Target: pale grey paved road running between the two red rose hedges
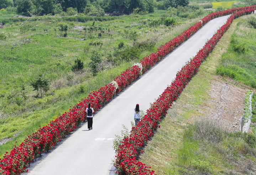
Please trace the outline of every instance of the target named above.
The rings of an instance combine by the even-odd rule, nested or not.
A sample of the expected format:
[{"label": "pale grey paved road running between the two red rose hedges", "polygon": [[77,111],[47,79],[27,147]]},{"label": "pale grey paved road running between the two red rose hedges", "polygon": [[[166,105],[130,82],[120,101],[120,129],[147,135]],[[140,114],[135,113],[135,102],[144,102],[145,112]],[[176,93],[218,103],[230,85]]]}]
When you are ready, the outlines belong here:
[{"label": "pale grey paved road running between the two red rose hedges", "polygon": [[[182,66],[192,58],[224,24],[228,16],[209,21],[188,41],[179,46],[159,64],[141,76],[93,119],[93,130],[87,123],[71,134],[56,149],[31,165],[28,175],[108,175],[113,166],[111,159],[115,134],[120,134],[122,124],[131,129],[134,108],[142,110],[153,102],[170,85]],[[92,106],[93,107],[93,106]]]}]

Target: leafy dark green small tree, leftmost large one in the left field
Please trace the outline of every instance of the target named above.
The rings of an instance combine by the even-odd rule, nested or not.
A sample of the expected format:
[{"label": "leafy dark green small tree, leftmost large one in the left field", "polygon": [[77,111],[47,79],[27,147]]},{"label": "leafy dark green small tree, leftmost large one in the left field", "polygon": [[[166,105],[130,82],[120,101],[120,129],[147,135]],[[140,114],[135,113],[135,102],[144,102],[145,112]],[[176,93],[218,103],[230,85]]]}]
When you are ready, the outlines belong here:
[{"label": "leafy dark green small tree, leftmost large one in the left field", "polygon": [[33,90],[36,91],[36,98],[42,98],[50,89],[50,80],[45,77],[45,74],[39,74],[37,78],[30,81]]}]

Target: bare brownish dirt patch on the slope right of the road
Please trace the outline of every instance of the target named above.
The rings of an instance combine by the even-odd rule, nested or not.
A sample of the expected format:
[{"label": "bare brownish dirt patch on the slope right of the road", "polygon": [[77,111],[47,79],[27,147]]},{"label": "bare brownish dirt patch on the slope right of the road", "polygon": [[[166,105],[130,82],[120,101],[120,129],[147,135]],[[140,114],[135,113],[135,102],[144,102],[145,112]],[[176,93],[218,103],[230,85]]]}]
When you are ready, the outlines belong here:
[{"label": "bare brownish dirt patch on the slope right of the road", "polygon": [[224,81],[215,78],[210,83],[208,90],[209,99],[198,108],[199,115],[190,121],[202,117],[220,122],[229,131],[241,131],[241,118],[243,116],[245,93],[249,89],[246,86],[236,86],[234,80]]}]

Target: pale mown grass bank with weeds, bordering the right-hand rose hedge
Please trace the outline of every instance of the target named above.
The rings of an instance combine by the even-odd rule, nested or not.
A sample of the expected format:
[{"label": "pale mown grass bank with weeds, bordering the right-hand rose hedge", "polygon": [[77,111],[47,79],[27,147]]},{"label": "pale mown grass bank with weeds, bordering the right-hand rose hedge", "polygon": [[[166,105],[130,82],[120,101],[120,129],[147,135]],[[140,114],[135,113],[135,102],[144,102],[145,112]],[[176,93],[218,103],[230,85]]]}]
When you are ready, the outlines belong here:
[{"label": "pale mown grass bank with weeds, bordering the right-hand rose hedge", "polygon": [[237,23],[248,17],[234,20],[143,149],[139,161],[156,174],[255,174],[255,135],[227,132],[200,108],[210,105],[210,83],[223,79],[216,75],[221,55],[229,51]]}]

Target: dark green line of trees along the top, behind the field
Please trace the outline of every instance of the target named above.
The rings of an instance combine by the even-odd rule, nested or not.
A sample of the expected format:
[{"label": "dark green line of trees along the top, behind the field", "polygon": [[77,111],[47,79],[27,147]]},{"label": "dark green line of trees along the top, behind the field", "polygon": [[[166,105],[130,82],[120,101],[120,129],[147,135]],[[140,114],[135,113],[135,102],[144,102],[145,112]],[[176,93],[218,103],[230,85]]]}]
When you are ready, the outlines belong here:
[{"label": "dark green line of trees along the top, behind the field", "polygon": [[0,9],[16,7],[19,15],[75,15],[103,16],[106,12],[129,15],[154,12],[154,9],[187,6],[189,0],[0,0]]}]

